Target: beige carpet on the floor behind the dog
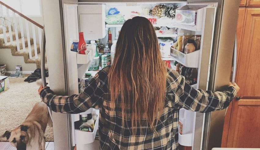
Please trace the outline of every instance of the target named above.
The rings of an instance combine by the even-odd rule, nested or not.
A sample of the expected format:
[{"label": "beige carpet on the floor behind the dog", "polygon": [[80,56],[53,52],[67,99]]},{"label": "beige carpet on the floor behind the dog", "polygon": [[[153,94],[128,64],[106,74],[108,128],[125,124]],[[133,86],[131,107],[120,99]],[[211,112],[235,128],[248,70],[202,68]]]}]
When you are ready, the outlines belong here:
[{"label": "beige carpet on the floor behind the dog", "polygon": [[[0,141],[1,135],[24,122],[34,104],[41,101],[36,82],[24,82],[25,78],[10,78],[10,89],[0,93]],[[53,141],[52,128],[47,126],[46,141]]]}]

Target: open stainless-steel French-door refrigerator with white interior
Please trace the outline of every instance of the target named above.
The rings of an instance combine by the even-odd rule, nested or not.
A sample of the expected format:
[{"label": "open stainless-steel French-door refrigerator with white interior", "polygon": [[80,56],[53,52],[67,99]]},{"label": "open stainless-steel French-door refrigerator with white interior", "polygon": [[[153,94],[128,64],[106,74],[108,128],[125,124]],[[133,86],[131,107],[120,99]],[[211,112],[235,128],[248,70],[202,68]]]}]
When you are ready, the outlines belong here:
[{"label": "open stainless-steel French-door refrigerator with white interior", "polygon": [[[82,79],[87,71],[95,55],[95,46],[89,45],[88,48],[93,53],[82,56],[70,51],[72,40],[77,39],[78,33],[83,31],[86,40],[100,38],[106,43],[108,29],[112,31],[114,40],[122,25],[105,23],[108,8],[140,9],[142,5],[171,4],[201,8],[196,13],[195,26],[178,23],[173,26],[177,30],[183,29],[184,34],[201,35],[201,46],[200,50],[190,53],[191,55],[178,54],[173,50],[173,55],[163,60],[170,60],[171,64],[177,60],[186,67],[197,68],[197,84],[193,85],[195,88],[226,90],[230,77],[234,76],[232,68],[236,68],[232,67],[232,57],[236,57],[233,52],[239,3],[239,0],[44,0],[42,5],[50,89],[58,95],[78,94],[77,78]],[[163,27],[164,24],[154,26]],[[171,36],[176,37],[167,35]],[[96,72],[91,73],[95,75]],[[92,109],[81,114],[91,111]],[[71,150],[75,145],[78,150],[99,149],[96,135],[98,119],[93,133],[84,132],[76,127],[81,114],[52,112],[55,150]],[[191,146],[193,150],[220,147],[224,118],[225,110],[211,113],[180,110],[180,119],[187,120],[184,126],[189,130],[186,134],[179,133],[179,144]]]}]

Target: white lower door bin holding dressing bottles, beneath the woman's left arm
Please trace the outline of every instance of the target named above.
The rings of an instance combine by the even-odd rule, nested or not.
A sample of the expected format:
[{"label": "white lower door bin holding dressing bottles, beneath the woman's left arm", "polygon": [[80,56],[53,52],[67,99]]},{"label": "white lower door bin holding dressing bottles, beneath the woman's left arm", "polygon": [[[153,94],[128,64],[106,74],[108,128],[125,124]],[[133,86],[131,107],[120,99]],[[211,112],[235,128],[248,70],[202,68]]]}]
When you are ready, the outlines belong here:
[{"label": "white lower door bin holding dressing bottles, beneath the woman's left arm", "polygon": [[95,141],[95,136],[98,130],[98,122],[99,122],[99,109],[96,109],[96,114],[97,114],[97,119],[95,122],[95,126],[94,126],[94,130],[93,132],[87,132],[87,131],[82,131],[79,130],[79,126],[80,126],[80,115],[82,114],[90,114],[92,112],[92,110],[95,108],[90,108],[88,109],[86,112],[80,113],[80,114],[76,114],[77,115],[77,119],[74,120],[75,122],[75,144],[77,146],[77,149],[82,147],[82,145],[85,144],[89,144]]}]

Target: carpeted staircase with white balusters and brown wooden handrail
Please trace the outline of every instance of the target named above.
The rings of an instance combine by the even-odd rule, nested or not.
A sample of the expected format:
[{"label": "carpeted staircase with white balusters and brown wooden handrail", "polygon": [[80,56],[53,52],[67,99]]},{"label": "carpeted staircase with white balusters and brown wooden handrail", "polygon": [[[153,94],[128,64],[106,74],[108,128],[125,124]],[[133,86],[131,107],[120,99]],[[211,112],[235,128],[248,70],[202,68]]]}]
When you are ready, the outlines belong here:
[{"label": "carpeted staircase with white balusters and brown wooden handrail", "polygon": [[[5,15],[3,13],[3,10],[6,10]],[[13,13],[13,16],[17,17],[18,15],[19,19],[13,16],[10,17],[10,10]],[[43,26],[31,20],[27,16],[24,16],[23,14],[17,12],[15,9],[11,8],[1,1],[0,16],[2,23],[2,25],[0,26],[0,49],[11,49],[11,53],[13,56],[23,56],[25,63],[34,63],[36,64],[36,68],[41,68],[40,49]],[[11,22],[9,20],[13,21]],[[27,38],[24,37],[23,21],[25,22],[25,33]],[[19,24],[17,22],[19,22]],[[32,38],[30,38],[28,23],[31,24],[32,27]],[[39,41],[37,42],[39,44],[36,44],[35,27],[36,29],[38,29]],[[15,57],[10,59],[15,59]],[[48,69],[47,64],[45,64],[45,68]]]}]

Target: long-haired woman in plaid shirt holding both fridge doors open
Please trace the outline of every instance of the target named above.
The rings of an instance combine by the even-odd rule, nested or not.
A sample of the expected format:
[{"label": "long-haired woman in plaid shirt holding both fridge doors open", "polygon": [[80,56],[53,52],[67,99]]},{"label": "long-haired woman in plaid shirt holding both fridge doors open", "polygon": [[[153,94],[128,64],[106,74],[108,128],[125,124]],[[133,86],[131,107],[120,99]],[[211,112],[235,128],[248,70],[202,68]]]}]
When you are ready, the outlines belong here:
[{"label": "long-haired woman in plaid shirt holding both fridge doors open", "polygon": [[58,96],[39,89],[54,112],[100,108],[100,148],[178,149],[180,108],[211,112],[228,107],[239,87],[196,90],[166,68],[153,25],[143,17],[127,20],[118,37],[113,65],[99,71],[80,95]]}]

